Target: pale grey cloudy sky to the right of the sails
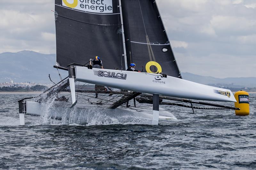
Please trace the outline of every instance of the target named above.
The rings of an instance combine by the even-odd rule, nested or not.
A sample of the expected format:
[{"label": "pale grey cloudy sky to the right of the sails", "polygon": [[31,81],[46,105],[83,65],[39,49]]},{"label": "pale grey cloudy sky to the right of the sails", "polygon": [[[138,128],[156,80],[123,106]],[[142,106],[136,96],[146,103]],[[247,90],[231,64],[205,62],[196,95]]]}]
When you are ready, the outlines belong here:
[{"label": "pale grey cloudy sky to the right of the sails", "polygon": [[256,76],[256,8],[245,6],[252,1],[157,2],[170,41],[188,43],[173,48],[182,72]]}]

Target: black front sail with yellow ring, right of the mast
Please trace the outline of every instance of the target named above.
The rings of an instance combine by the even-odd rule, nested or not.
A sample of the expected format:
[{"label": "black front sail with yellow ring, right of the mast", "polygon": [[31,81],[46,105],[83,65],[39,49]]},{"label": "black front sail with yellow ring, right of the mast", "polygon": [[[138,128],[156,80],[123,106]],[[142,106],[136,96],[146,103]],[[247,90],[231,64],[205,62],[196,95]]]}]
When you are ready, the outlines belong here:
[{"label": "black front sail with yellow ring, right of the mast", "polygon": [[181,78],[155,0],[122,0],[127,61]]}]

